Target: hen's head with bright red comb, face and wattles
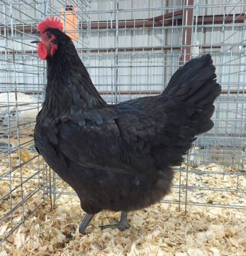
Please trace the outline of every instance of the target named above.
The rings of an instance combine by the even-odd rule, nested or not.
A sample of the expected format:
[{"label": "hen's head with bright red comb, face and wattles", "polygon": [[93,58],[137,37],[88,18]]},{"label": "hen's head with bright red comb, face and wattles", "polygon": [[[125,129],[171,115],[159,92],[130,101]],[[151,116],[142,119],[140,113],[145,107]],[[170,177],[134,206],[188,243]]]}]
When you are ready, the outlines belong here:
[{"label": "hen's head with bright red comb, face and wattles", "polygon": [[41,21],[37,26],[37,34],[41,40],[35,40],[31,43],[38,43],[38,57],[42,60],[46,60],[48,56],[53,56],[56,53],[58,43],[57,37],[54,30],[63,30],[63,25],[57,18],[54,17],[46,18],[46,20]]}]

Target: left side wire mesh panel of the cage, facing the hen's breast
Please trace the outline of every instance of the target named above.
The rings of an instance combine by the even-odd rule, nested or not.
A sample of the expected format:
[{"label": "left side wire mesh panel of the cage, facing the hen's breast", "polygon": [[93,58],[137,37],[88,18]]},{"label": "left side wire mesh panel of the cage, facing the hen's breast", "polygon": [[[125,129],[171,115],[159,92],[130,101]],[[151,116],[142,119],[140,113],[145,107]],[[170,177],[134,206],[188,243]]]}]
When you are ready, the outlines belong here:
[{"label": "left side wire mesh panel of the cage, facing the hen's breast", "polygon": [[31,153],[46,71],[30,33],[45,9],[29,0],[0,5],[0,243],[50,196],[50,172]]}]

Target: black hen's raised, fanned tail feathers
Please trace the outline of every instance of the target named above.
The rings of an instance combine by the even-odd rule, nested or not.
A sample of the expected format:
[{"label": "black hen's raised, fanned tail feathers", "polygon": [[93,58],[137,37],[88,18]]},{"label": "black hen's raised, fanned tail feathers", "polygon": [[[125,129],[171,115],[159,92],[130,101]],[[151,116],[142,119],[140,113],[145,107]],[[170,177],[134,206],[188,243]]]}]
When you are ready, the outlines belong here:
[{"label": "black hen's raised, fanned tail feathers", "polygon": [[163,92],[170,99],[195,104],[196,111],[190,120],[198,124],[196,135],[212,129],[211,117],[215,110],[213,102],[221,93],[221,85],[216,82],[215,66],[212,63],[211,55],[190,60],[174,73]]}]

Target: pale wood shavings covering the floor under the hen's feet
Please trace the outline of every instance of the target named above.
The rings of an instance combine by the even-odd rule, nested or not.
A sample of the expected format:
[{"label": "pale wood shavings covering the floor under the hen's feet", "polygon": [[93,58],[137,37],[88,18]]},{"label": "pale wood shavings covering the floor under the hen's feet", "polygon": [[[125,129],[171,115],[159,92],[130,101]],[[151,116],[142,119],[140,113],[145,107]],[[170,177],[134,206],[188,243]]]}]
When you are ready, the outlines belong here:
[{"label": "pale wood shavings covering the floor under the hen's feet", "polygon": [[[215,167],[219,169],[216,165],[211,168]],[[178,177],[177,174],[174,184]],[[192,176],[189,179],[192,179]],[[209,178],[212,179],[213,177]],[[204,182],[203,179],[200,180]],[[218,180],[216,178],[217,183]],[[240,185],[246,189],[245,177]],[[219,197],[219,194],[212,191],[211,195],[213,200]],[[173,190],[168,198],[177,200],[176,190]],[[237,200],[238,198],[245,206],[245,197],[241,195],[237,196]],[[196,199],[196,191],[193,199]],[[221,199],[235,201],[235,193],[227,193],[226,197],[224,193]],[[40,200],[40,197],[34,197],[28,202],[28,207],[35,207]],[[4,212],[1,208],[2,205],[2,215]],[[128,216],[131,228],[123,232],[117,229],[102,231],[99,228],[99,225],[113,223],[114,218],[119,218],[119,213],[103,211],[98,213],[88,226],[88,234],[80,235],[77,227],[84,214],[75,196],[61,196],[52,211],[47,200],[25,221],[25,226],[18,228],[2,244],[0,256],[246,255],[245,210],[189,206],[185,213],[184,207],[181,207],[179,212],[177,204],[158,203],[147,209],[131,212]],[[8,228],[9,223],[2,225],[0,235],[4,235]],[[76,231],[72,231],[73,229]],[[71,234],[71,237],[64,234]]]}]

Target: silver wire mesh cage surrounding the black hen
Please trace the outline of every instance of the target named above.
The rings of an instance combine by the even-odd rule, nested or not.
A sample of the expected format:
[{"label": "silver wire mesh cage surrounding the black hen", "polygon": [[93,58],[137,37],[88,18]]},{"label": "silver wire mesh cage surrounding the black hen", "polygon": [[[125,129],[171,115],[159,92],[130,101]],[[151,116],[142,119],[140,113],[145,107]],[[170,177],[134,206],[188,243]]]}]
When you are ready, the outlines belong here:
[{"label": "silver wire mesh cage surrounding the black hen", "polygon": [[[108,104],[158,95],[180,65],[211,53],[222,85],[215,126],[198,137],[182,166],[175,168],[175,197],[163,202],[185,210],[190,205],[246,210],[245,6],[244,0],[3,0],[0,225],[6,229],[0,243],[47,199],[52,208],[61,194],[75,194],[33,148],[46,63],[30,44],[31,32],[51,15],[62,20]],[[24,153],[31,158],[23,158]]]}]

